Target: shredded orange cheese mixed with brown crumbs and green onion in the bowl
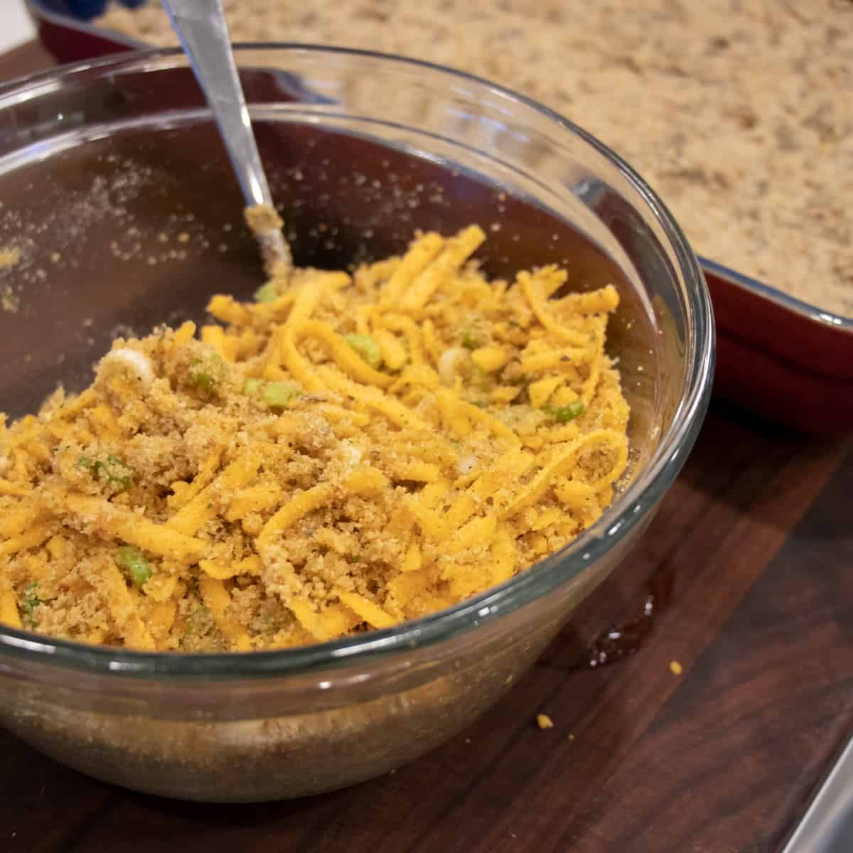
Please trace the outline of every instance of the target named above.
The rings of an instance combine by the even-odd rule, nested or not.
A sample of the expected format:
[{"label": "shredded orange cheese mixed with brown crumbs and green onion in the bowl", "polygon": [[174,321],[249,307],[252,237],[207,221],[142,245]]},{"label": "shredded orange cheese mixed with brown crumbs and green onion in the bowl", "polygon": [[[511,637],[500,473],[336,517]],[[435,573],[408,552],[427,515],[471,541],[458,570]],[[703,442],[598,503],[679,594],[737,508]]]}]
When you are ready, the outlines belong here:
[{"label": "shredded orange cheese mixed with brown crumbs and green onion in the bowl", "polygon": [[628,460],[618,293],[561,295],[554,266],[487,281],[483,241],[214,296],[218,322],[119,339],[82,394],[0,416],[0,621],[298,646],[450,606],[595,523]]}]

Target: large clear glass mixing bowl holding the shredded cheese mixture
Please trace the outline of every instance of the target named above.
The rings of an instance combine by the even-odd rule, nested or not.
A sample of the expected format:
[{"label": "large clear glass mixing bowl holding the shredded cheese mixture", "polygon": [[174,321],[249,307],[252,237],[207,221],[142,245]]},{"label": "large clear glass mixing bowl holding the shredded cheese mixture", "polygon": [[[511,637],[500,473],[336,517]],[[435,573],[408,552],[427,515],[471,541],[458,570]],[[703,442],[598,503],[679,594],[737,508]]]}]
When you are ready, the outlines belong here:
[{"label": "large clear glass mixing bowl holding the shredded cheese mixture", "polygon": [[[614,283],[608,347],[633,415],[601,520],[508,583],[391,630],[280,652],[138,653],[0,631],[0,721],[102,780],[211,801],[327,791],[437,746],[507,691],[634,547],[711,391],[711,303],[684,235],[601,143],[464,74],[342,49],[238,51],[299,264],[482,224],[492,275],[559,262]],[[82,388],[115,335],[199,319],[262,280],[182,54],[122,55],[0,89],[0,409]]]}]

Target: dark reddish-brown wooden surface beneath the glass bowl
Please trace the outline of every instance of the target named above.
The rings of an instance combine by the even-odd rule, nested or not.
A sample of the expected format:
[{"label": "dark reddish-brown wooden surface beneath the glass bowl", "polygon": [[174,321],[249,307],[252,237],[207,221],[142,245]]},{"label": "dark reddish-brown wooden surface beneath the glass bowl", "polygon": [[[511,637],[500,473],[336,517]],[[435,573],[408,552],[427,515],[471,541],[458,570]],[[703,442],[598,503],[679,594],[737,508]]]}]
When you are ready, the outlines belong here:
[{"label": "dark reddish-brown wooden surface beneath the glass bowl", "polygon": [[[26,46],[0,79],[48,62]],[[636,553],[444,747],[345,791],[223,806],[104,785],[0,730],[0,850],[771,853],[850,734],[851,496],[853,442],[714,403]],[[651,577],[670,601],[640,650],[579,665]]]}]

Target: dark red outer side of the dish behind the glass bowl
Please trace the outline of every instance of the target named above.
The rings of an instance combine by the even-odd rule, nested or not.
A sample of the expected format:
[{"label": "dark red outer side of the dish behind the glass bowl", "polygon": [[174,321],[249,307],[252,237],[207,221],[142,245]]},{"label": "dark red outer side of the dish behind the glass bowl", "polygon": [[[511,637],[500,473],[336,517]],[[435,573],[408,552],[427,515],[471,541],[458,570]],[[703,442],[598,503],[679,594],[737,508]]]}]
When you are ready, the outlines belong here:
[{"label": "dark red outer side of the dish behind the glass bowl", "polygon": [[[78,20],[68,0],[27,3],[58,61],[150,46]],[[853,432],[853,317],[699,260],[717,320],[717,395],[798,432]]]}]

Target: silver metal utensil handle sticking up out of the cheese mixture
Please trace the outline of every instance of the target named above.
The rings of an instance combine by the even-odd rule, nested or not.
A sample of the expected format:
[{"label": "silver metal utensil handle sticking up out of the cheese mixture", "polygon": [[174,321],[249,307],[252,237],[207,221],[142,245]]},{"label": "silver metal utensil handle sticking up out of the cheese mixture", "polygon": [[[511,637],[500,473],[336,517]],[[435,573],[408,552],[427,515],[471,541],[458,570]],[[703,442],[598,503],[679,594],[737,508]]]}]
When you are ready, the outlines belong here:
[{"label": "silver metal utensil handle sticking up out of the cheese mixture", "polygon": [[258,239],[264,270],[270,276],[287,275],[293,255],[281,234],[281,219],[252,133],[222,0],[163,0],[163,6],[216,119],[246,199],[247,223]]}]

